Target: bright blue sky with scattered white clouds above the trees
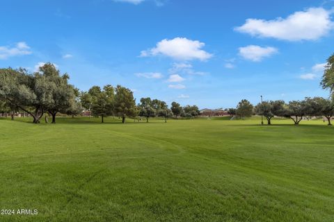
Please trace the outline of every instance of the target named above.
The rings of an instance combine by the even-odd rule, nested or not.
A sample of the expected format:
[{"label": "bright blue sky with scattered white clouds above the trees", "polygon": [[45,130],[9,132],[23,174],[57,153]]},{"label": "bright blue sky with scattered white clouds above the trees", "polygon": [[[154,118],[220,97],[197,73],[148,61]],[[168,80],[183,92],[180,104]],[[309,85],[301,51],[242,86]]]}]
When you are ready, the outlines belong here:
[{"label": "bright blue sky with scattered white clouds above the trees", "polygon": [[0,4],[0,67],[53,62],[81,90],[120,84],[137,101],[200,108],[328,96],[319,81],[334,53],[334,1]]}]

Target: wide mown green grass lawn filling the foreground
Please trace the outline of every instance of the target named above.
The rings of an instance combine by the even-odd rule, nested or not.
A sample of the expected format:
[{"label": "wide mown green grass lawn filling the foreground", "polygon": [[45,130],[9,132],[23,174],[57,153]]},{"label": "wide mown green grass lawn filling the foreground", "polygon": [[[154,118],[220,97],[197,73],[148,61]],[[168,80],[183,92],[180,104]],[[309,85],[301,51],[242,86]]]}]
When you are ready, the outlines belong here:
[{"label": "wide mown green grass lawn filling the foreground", "polygon": [[0,119],[0,221],[334,221],[322,121]]}]

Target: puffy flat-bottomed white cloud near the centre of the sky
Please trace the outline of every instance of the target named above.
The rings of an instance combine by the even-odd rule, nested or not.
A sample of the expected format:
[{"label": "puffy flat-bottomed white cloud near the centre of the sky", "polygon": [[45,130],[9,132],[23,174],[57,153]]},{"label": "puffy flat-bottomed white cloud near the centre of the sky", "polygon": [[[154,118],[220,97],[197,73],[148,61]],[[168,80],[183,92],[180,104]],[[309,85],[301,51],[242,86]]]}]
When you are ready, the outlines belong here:
[{"label": "puffy flat-bottomed white cloud near the centre of the sky", "polygon": [[175,37],[173,40],[161,40],[155,48],[141,51],[141,57],[164,55],[175,60],[205,61],[211,58],[212,54],[202,50],[204,46],[205,43],[197,40]]}]

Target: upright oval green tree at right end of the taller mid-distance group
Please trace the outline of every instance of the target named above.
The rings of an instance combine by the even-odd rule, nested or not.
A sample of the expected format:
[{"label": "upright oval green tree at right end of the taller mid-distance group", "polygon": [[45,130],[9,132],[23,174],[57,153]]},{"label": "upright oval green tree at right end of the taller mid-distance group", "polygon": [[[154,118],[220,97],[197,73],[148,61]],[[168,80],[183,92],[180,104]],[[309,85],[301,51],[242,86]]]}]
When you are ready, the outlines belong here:
[{"label": "upright oval green tree at right end of the taller mid-distance group", "polygon": [[125,123],[126,117],[134,117],[136,113],[136,100],[133,92],[120,85],[116,87],[113,105],[115,113],[122,117],[122,123]]}]

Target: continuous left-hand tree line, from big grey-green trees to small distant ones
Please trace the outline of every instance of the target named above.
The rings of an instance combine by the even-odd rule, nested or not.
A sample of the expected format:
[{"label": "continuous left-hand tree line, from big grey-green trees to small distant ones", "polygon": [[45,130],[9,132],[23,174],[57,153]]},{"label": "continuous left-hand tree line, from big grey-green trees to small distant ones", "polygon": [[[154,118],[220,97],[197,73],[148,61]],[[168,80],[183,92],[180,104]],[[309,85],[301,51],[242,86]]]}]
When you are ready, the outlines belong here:
[{"label": "continuous left-hand tree line, from big grey-green trees to small distant ones", "polygon": [[[70,76],[61,74],[56,67],[47,63],[33,74],[26,69],[0,69],[0,112],[14,114],[23,110],[33,123],[40,123],[45,114],[56,123],[58,113],[78,115],[84,109],[94,117],[117,116],[125,123],[126,117],[196,117],[200,112],[196,105],[182,107],[173,102],[171,107],[158,99],[142,98],[136,105],[133,92],[121,85],[91,87],[87,92],[68,83]],[[46,118],[47,121],[47,118]]]}]

